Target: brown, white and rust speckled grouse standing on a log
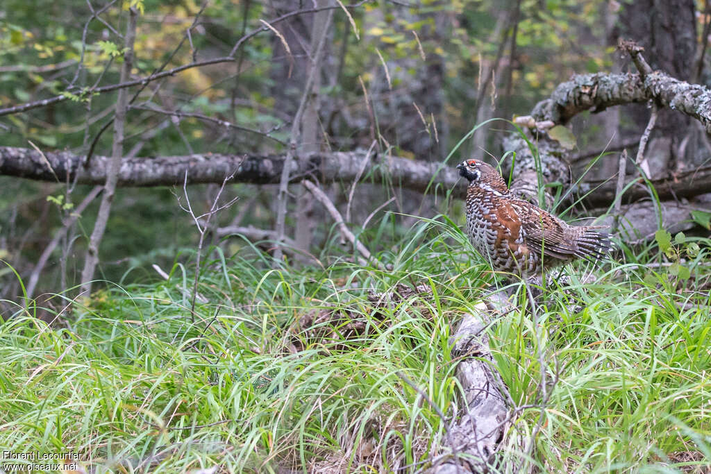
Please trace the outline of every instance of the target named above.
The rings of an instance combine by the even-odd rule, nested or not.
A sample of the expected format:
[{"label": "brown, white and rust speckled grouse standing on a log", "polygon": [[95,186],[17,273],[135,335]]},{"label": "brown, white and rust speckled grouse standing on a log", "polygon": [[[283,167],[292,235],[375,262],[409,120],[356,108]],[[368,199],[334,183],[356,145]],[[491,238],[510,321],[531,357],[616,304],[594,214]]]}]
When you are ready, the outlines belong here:
[{"label": "brown, white and rust speckled grouse standing on a log", "polygon": [[572,226],[510,193],[501,174],[478,160],[457,168],[469,181],[466,229],[494,271],[528,278],[544,270],[587,259],[597,262],[612,249],[599,226]]}]

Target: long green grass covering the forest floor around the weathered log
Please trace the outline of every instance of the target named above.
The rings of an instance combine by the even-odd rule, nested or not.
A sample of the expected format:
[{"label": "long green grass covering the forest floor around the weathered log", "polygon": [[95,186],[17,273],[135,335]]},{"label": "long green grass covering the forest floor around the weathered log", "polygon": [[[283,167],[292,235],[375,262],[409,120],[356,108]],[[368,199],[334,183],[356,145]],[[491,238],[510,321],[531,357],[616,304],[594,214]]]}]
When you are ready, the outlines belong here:
[{"label": "long green grass covering the forest floor around the weathered log", "polygon": [[[689,280],[637,265],[659,262],[656,247],[626,249],[626,263],[569,268],[565,291],[551,283],[538,328],[523,291],[489,328],[516,404],[540,403],[540,360],[557,377],[531,455],[542,472],[711,463],[711,242],[695,242]],[[494,280],[447,223],[423,221],[382,257],[392,270],[342,259],[277,271],[244,247],[205,264],[195,323],[180,264],[168,281],[90,301],[54,296],[66,308],[52,325],[18,306],[0,325],[0,447],[78,452],[99,472],[427,468],[444,422],[396,372],[451,417],[461,394],[451,328]],[[580,284],[585,271],[597,281]],[[368,298],[397,284],[432,292],[390,306]],[[335,328],[301,327],[325,313],[341,316]],[[365,329],[353,333],[354,319]],[[499,460],[525,458],[520,440],[540,414],[521,411]]]}]

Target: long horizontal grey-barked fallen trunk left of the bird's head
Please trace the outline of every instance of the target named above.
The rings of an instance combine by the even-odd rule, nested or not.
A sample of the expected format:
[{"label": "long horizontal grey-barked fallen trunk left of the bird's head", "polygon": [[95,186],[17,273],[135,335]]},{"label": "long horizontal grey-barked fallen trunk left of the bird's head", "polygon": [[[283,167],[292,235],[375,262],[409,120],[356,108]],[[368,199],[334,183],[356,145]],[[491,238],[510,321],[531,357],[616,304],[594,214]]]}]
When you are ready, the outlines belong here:
[{"label": "long horizontal grey-barked fallen trunk left of the bird's head", "polygon": [[[67,178],[79,184],[103,184],[107,177],[107,156],[94,156],[90,166],[82,166],[83,156],[67,151],[45,152],[33,149],[0,146],[0,175],[17,176],[38,181],[56,182]],[[361,182],[384,183],[420,193],[444,194],[455,187],[463,196],[466,185],[453,166],[442,163],[399,158],[368,156],[368,151],[316,153],[292,167],[290,183],[311,178],[322,184],[352,183],[367,160]],[[159,156],[156,158],[124,158],[119,169],[117,186],[149,187],[183,185],[186,171],[188,185],[222,183],[233,172],[231,183],[276,184],[282,176],[285,156],[194,154]],[[51,166],[52,170],[48,168]]]}]

